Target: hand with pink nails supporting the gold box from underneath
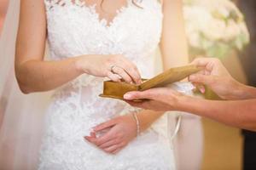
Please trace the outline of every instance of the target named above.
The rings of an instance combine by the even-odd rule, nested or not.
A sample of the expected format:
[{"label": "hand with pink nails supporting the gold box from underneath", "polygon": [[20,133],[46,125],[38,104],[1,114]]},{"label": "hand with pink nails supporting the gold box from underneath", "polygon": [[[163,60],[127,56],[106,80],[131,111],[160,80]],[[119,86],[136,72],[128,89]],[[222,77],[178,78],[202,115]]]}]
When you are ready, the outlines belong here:
[{"label": "hand with pink nails supporting the gold box from underneath", "polygon": [[[143,92],[130,92],[125,94],[124,99],[130,105],[146,110],[154,111],[176,111],[178,109],[178,99],[183,94],[171,88],[152,88]],[[148,99],[142,102],[134,102],[134,99]]]}]

